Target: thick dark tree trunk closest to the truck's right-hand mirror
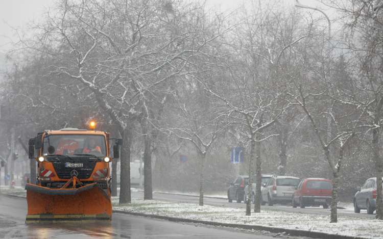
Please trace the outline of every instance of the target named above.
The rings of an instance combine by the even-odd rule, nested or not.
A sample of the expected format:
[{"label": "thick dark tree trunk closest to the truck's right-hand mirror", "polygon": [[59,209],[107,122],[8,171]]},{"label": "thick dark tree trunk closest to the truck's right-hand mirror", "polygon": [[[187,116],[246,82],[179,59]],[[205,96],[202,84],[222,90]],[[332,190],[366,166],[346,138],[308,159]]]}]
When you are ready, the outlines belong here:
[{"label": "thick dark tree trunk closest to the truck's right-hand mirror", "polygon": [[132,144],[132,132],[126,129],[123,134],[123,146],[121,147],[121,175],[119,180],[119,204],[131,203],[130,192],[130,147]]}]

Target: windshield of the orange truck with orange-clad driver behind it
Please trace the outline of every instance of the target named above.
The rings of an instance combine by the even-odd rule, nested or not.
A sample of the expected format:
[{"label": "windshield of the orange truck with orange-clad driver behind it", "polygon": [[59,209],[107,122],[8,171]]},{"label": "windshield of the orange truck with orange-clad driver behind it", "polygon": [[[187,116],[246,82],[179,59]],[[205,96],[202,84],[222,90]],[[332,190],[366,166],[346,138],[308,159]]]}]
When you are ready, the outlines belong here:
[{"label": "windshield of the orange truck with orange-clad driver behind it", "polygon": [[42,153],[49,155],[106,155],[106,140],[103,135],[47,135],[44,136]]}]

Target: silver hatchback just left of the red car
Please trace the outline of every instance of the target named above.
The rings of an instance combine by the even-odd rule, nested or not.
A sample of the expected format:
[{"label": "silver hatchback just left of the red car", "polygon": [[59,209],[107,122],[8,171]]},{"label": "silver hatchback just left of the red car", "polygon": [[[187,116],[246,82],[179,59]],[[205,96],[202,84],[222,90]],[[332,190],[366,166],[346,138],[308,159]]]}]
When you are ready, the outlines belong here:
[{"label": "silver hatchback just left of the red car", "polygon": [[291,203],[293,193],[297,188],[300,179],[291,176],[272,176],[262,189],[261,204],[268,202],[269,206],[275,203]]}]

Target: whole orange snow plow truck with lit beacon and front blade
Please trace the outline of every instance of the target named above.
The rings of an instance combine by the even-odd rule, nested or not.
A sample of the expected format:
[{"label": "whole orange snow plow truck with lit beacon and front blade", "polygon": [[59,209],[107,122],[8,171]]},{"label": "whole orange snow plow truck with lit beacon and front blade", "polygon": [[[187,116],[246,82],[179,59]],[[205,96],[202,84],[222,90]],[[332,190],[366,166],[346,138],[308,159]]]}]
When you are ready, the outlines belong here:
[{"label": "whole orange snow plow truck with lit beacon and front blade", "polygon": [[37,161],[36,184],[27,183],[26,224],[110,223],[109,147],[119,157],[122,139],[94,130],[44,130],[29,140],[29,158]]}]

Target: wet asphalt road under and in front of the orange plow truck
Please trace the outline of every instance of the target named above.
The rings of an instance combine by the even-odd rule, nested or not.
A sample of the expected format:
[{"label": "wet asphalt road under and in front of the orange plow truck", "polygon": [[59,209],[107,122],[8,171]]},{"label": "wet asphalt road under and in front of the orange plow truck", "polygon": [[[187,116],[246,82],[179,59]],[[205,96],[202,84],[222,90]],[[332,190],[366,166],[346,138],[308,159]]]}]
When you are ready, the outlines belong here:
[{"label": "wet asphalt road under and in front of the orange plow truck", "polygon": [[[257,238],[274,234],[175,223],[114,213],[111,224],[26,225],[27,200],[0,195],[0,238]],[[275,235],[274,235],[275,236]],[[294,238],[294,237],[291,237]]]}]

